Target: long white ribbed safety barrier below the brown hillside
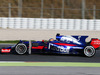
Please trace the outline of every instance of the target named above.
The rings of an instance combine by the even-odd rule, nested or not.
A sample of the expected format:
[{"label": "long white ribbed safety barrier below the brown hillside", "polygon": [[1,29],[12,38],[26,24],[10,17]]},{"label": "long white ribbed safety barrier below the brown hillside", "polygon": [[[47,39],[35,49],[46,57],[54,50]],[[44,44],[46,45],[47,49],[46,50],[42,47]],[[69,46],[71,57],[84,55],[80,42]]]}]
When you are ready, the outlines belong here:
[{"label": "long white ribbed safety barrier below the brown hillside", "polygon": [[100,30],[99,19],[6,18],[0,17],[0,28]]}]

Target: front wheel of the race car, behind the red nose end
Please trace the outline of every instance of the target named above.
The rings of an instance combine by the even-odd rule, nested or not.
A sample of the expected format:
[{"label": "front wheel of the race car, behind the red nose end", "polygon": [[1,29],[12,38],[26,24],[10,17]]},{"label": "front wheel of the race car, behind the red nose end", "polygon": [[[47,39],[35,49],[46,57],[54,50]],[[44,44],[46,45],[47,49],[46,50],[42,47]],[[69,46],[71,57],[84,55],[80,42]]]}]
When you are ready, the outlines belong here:
[{"label": "front wheel of the race car, behind the red nose end", "polygon": [[17,52],[17,54],[25,54],[27,52],[27,47],[25,44],[23,43],[19,43],[17,44],[17,46],[15,47],[15,51]]}]

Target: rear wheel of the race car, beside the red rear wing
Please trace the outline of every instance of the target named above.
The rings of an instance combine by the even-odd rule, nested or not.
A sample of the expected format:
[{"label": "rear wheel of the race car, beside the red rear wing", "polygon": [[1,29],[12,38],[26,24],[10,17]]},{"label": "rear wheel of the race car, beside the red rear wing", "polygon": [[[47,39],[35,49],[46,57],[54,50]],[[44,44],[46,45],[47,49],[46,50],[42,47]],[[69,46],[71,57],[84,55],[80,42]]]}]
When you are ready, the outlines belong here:
[{"label": "rear wheel of the race car, beside the red rear wing", "polygon": [[84,55],[86,57],[93,57],[95,55],[95,53],[96,53],[96,50],[94,49],[93,46],[86,46],[84,48]]}]

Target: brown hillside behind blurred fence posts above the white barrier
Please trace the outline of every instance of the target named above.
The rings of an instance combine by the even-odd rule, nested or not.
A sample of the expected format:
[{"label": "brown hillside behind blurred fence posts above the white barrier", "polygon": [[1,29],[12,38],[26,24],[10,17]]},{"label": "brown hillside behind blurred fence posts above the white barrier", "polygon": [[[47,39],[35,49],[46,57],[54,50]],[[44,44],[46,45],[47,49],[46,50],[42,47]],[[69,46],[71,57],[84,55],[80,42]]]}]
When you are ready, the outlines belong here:
[{"label": "brown hillside behind blurred fence posts above the white barrier", "polygon": [[0,0],[0,17],[100,19],[100,0]]}]

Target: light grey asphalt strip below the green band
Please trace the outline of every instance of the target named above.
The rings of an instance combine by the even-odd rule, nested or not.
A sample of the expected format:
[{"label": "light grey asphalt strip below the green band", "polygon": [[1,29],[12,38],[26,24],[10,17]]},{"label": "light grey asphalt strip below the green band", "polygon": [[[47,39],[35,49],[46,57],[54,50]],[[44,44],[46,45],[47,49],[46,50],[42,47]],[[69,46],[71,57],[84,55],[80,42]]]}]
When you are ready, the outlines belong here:
[{"label": "light grey asphalt strip below the green band", "polygon": [[0,67],[0,75],[100,75],[90,67]]}]

